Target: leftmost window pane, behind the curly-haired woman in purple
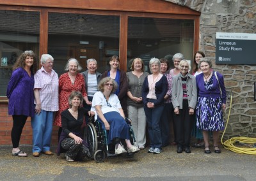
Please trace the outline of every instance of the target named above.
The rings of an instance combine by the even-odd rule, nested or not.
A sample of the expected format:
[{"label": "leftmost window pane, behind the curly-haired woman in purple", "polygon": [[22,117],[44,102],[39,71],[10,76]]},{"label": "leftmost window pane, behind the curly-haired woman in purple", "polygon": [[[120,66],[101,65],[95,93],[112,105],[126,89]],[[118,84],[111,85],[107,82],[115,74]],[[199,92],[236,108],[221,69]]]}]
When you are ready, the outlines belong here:
[{"label": "leftmost window pane, behind the curly-haired woman in purple", "polygon": [[0,10],[0,96],[6,96],[17,57],[25,50],[38,55],[39,24],[39,12]]}]

